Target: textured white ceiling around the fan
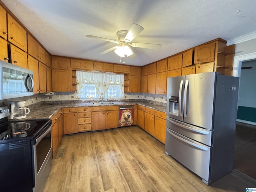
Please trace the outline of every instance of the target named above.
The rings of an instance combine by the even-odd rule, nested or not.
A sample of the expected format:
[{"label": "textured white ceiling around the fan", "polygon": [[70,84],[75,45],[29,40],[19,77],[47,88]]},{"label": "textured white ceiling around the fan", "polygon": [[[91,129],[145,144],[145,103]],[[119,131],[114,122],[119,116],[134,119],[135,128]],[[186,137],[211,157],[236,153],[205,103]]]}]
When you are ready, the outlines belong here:
[{"label": "textured white ceiling around the fan", "polygon": [[144,30],[133,42],[162,44],[160,50],[132,48],[143,66],[215,38],[231,40],[256,32],[255,0],[1,0],[53,55],[119,63],[116,32],[132,23]]}]

